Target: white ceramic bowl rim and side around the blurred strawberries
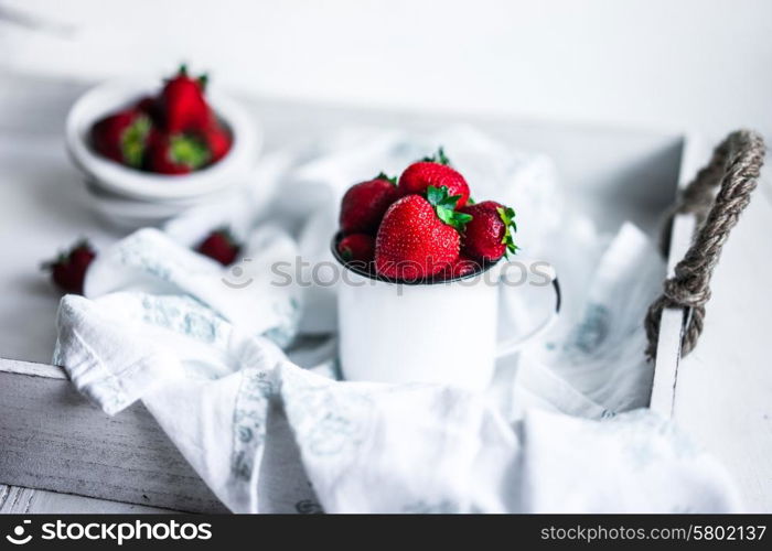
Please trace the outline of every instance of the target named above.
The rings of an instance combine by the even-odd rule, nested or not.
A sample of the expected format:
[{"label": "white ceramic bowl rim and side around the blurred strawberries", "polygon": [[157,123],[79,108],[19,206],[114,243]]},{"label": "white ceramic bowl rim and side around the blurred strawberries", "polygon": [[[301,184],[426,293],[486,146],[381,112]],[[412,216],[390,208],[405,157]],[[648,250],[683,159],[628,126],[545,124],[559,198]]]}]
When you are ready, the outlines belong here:
[{"label": "white ceramic bowl rim and side around the blurred strawberries", "polygon": [[158,91],[158,83],[114,80],[92,88],[75,102],[67,115],[65,139],[73,161],[87,177],[118,195],[153,203],[213,194],[248,177],[257,161],[261,134],[251,116],[216,89],[207,90],[206,97],[228,125],[233,145],[227,155],[211,166],[182,175],[153,174],[124,166],[92,149],[88,137],[94,122]]}]

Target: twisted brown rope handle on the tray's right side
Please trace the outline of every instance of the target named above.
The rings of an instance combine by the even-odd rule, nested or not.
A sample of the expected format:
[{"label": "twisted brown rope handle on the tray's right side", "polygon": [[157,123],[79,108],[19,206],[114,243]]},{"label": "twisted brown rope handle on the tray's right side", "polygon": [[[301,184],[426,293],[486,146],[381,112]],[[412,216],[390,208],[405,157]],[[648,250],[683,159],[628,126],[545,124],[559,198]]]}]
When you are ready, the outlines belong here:
[{"label": "twisted brown rope handle on the tray's right side", "polygon": [[[705,304],[710,300],[710,278],[729,233],[750,203],[750,194],[764,164],[764,140],[757,132],[738,130],[730,133],[714,150],[708,165],[684,188],[671,210],[660,244],[665,256],[676,214],[694,214],[698,230],[683,260],[676,264],[673,277],[665,280],[662,295],[648,306],[644,322],[648,359],[656,357],[664,309],[689,309],[682,356],[689,354],[697,345],[703,333]],[[718,194],[714,198],[716,187]]]}]

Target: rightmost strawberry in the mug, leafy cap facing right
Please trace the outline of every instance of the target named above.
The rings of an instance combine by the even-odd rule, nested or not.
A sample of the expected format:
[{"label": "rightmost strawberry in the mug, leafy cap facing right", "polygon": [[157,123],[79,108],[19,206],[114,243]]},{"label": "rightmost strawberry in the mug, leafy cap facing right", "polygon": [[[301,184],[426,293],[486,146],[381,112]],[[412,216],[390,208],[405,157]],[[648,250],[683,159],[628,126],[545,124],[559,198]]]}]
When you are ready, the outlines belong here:
[{"label": "rightmost strawberry in the mug, leafy cap facing right", "polygon": [[476,260],[496,261],[517,250],[512,239],[512,233],[517,231],[512,208],[495,201],[484,201],[468,205],[461,212],[472,216],[463,238],[465,255]]}]

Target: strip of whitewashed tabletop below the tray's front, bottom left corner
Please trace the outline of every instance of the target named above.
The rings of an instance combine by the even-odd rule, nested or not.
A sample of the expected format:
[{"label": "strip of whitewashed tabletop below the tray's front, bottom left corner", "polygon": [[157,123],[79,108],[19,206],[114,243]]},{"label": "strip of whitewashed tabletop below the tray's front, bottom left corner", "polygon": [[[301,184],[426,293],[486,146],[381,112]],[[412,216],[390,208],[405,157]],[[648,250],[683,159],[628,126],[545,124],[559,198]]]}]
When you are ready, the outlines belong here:
[{"label": "strip of whitewashed tabletop below the tray's front, bottom left corner", "polygon": [[0,515],[63,515],[68,512],[150,515],[174,511],[43,489],[0,485]]}]

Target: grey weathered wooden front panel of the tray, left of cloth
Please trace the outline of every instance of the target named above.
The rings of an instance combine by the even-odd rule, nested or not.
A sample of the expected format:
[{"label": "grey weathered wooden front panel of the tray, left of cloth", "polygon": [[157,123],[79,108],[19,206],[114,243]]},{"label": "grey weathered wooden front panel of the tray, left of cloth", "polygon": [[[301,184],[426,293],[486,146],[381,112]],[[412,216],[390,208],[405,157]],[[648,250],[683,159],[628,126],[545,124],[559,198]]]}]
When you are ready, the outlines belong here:
[{"label": "grey weathered wooden front panel of the tray, left of cloth", "polygon": [[0,371],[0,484],[225,511],[141,406],[114,418],[64,378]]}]

